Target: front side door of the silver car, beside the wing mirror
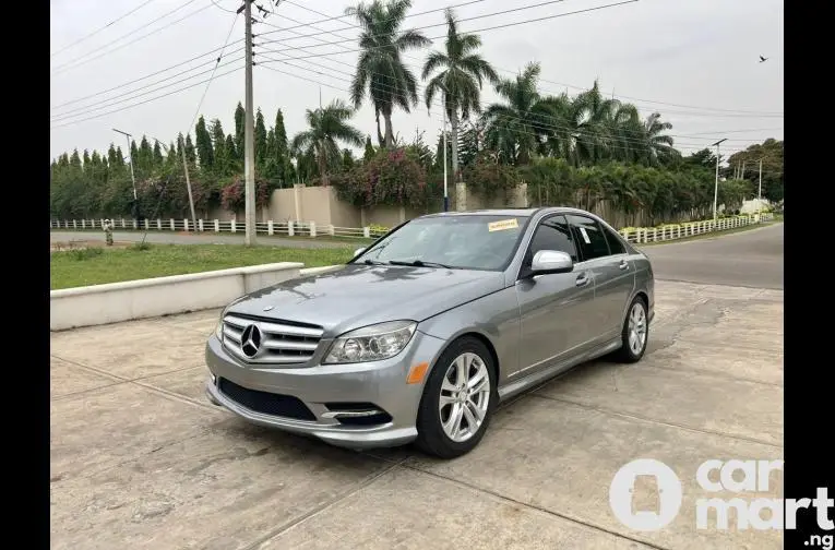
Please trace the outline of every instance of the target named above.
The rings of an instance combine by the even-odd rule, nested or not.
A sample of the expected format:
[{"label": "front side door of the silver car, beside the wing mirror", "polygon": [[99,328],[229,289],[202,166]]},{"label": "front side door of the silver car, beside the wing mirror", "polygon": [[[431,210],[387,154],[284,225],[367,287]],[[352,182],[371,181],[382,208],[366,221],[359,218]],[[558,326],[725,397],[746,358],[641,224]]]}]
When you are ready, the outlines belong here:
[{"label": "front side door of the silver car, beside the wing mirror", "polygon": [[[540,250],[565,252],[577,262],[574,238],[563,215],[539,223],[525,254],[522,274],[530,268]],[[595,279],[591,270],[577,263],[571,273],[521,277],[516,282],[521,315],[520,370],[530,374],[556,361],[581,352],[594,338]]]}]

